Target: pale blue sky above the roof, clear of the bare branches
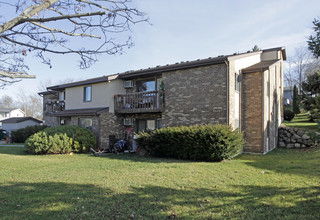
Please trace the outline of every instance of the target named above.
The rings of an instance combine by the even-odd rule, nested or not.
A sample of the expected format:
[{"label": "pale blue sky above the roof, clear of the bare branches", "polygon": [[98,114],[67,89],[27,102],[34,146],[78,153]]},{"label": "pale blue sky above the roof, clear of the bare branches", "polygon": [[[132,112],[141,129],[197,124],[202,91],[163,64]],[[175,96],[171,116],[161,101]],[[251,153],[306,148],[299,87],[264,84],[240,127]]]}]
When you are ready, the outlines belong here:
[{"label": "pale blue sky above the roof, clear of the bare branches", "polygon": [[[53,67],[27,58],[30,74],[37,79],[23,80],[0,90],[0,97],[15,97],[24,89],[39,92],[41,81],[67,78],[84,80],[128,70],[180,61],[245,52],[258,45],[262,49],[285,46],[287,56],[306,46],[312,21],[320,18],[319,0],[133,0],[146,12],[152,25],[133,27],[135,46],[123,55],[100,56],[89,69],[78,68],[76,56],[51,56]],[[1,10],[1,8],[0,8]],[[0,11],[2,14],[2,12]],[[128,34],[124,34],[127,36]]]}]

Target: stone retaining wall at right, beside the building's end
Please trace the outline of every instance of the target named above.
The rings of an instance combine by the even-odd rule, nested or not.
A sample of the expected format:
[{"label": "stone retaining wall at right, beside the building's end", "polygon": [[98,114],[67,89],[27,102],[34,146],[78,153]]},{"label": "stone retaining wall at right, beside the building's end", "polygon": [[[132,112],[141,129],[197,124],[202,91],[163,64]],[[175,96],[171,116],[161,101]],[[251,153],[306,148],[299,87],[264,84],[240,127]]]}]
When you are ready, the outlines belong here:
[{"label": "stone retaining wall at right, beside the building's end", "polygon": [[298,128],[279,127],[278,146],[285,148],[305,148],[315,144],[310,132]]}]

